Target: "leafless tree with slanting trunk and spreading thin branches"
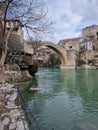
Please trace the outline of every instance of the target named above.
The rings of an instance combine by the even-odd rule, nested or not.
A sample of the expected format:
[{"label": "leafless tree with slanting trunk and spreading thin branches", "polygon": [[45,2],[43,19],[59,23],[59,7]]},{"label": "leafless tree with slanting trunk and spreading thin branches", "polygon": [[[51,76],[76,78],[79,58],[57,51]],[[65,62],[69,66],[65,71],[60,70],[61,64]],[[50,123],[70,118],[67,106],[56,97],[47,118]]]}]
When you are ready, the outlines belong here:
[{"label": "leafless tree with slanting trunk and spreading thin branches", "polygon": [[[1,0],[0,6],[4,5],[4,14],[0,20],[1,31],[1,56],[0,56],[0,83],[4,82],[4,62],[7,56],[8,39],[13,31],[13,27],[7,30],[7,20],[19,20],[25,30],[32,34],[41,34],[48,32],[51,22],[47,19],[47,10],[42,0]],[[11,25],[11,24],[10,24]]]}]

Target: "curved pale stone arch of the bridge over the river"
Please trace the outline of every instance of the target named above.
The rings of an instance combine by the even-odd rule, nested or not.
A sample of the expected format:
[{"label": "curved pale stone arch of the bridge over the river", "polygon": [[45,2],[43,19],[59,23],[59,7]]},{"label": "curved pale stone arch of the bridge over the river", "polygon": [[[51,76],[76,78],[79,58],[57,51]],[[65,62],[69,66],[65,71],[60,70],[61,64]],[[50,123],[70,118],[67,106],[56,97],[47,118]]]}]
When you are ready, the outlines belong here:
[{"label": "curved pale stone arch of the bridge over the river", "polygon": [[49,48],[53,49],[58,54],[58,56],[59,56],[59,58],[61,60],[60,67],[61,68],[65,68],[66,67],[67,56],[66,56],[66,51],[62,47],[56,45],[53,42],[49,42],[49,41],[41,42],[40,46],[46,46],[46,47],[49,47]]}]

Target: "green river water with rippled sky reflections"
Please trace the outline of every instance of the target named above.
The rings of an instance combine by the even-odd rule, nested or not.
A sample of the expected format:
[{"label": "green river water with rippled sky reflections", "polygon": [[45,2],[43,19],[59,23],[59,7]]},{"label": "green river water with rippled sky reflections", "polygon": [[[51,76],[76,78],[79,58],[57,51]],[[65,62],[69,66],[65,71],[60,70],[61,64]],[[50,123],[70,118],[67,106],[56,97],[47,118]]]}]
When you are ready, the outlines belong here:
[{"label": "green river water with rippled sky reflections", "polygon": [[20,90],[40,130],[98,130],[98,70],[39,69]]}]

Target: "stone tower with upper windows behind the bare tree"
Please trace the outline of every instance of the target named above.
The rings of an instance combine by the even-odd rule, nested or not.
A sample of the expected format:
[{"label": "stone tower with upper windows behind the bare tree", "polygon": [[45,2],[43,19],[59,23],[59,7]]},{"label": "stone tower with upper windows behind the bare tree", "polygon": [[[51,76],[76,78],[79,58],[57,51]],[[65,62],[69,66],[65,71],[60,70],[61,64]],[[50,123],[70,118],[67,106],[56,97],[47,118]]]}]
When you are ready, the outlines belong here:
[{"label": "stone tower with upper windows behind the bare tree", "polygon": [[7,20],[6,28],[7,31],[12,28],[12,32],[8,41],[8,48],[10,50],[23,51],[24,39],[22,23],[19,20]]}]

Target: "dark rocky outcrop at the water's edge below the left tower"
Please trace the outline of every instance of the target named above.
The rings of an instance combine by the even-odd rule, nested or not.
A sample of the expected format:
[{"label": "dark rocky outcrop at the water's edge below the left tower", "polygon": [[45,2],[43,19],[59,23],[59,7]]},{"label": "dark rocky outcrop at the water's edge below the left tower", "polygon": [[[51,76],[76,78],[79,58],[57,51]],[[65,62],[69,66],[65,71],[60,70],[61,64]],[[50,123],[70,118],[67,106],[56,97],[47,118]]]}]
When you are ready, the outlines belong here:
[{"label": "dark rocky outcrop at the water's edge below the left tower", "polygon": [[37,70],[38,66],[33,63],[32,55],[19,51],[8,53],[5,62],[6,81],[23,82],[30,80]]}]

